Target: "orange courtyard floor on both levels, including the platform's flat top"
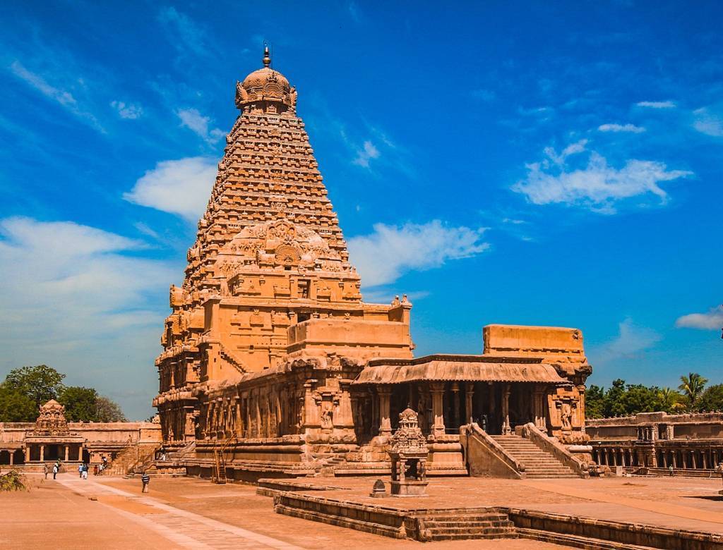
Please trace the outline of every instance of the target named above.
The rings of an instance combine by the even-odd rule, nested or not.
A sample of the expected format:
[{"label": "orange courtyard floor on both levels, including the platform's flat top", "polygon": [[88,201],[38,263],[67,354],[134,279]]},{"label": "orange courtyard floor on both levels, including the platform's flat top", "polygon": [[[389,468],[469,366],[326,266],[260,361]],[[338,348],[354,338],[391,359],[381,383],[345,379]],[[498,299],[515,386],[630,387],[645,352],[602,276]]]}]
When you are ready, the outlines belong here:
[{"label": "orange courtyard floor on both levels, including the platform's flat top", "polygon": [[[0,547],[30,549],[360,549],[421,548],[390,538],[273,513],[273,501],[254,486],[218,486],[199,479],[152,479],[141,494],[137,479],[65,473],[57,481],[29,475],[30,492],[0,497]],[[510,505],[534,510],[723,533],[720,479],[608,478],[513,481],[432,479],[425,499],[371,499],[373,479],[315,479],[348,490],[315,492],[403,507]],[[469,548],[470,541],[428,543]],[[553,549],[536,541],[474,541],[479,549]]]}]

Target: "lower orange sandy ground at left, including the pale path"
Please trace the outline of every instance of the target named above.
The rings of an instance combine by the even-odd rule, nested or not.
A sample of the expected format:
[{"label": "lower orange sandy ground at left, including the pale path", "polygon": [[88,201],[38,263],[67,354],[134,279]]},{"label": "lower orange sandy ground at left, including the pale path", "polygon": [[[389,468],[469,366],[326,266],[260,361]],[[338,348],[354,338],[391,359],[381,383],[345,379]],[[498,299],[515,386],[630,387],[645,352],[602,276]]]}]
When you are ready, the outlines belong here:
[{"label": "lower orange sandy ground at left, including the pale path", "polygon": [[562,548],[510,539],[427,545],[398,541],[277,515],[272,499],[241,484],[152,479],[150,493],[141,494],[139,480],[91,476],[82,481],[72,473],[57,481],[27,478],[29,492],[0,495],[1,549]]}]

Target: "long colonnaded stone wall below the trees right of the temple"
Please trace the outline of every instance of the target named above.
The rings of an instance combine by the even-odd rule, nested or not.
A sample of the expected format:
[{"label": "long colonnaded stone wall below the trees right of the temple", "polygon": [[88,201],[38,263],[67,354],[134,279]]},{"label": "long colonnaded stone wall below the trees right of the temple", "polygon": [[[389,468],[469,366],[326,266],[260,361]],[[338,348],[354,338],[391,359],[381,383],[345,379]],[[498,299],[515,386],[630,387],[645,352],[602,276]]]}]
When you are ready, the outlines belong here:
[{"label": "long colonnaded stone wall below the trees right of the temple", "polygon": [[589,419],[593,458],[601,466],[711,471],[723,462],[723,413],[638,413]]}]

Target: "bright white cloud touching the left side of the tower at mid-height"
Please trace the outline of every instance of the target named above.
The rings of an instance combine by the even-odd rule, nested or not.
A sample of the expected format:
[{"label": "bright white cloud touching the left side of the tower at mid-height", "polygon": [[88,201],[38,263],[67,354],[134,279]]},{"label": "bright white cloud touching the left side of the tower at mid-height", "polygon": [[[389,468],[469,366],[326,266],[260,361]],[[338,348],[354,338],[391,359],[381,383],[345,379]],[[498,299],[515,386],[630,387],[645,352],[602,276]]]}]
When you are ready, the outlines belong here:
[{"label": "bright white cloud touching the left side of the tower at mid-height", "polygon": [[217,161],[210,157],[163,160],[123,198],[194,221],[205,211],[216,171]]}]

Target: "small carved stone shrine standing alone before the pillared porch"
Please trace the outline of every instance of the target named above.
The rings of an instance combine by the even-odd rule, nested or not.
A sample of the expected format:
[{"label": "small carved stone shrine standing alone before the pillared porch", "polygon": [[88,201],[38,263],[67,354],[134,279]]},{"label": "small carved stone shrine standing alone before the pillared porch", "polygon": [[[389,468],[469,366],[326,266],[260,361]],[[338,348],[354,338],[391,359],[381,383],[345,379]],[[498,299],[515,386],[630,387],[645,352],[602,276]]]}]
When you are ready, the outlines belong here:
[{"label": "small carved stone shrine standing alone before the pillared porch", "polygon": [[419,497],[427,491],[427,439],[419,429],[412,409],[399,414],[399,427],[391,439],[391,494],[393,497]]}]

